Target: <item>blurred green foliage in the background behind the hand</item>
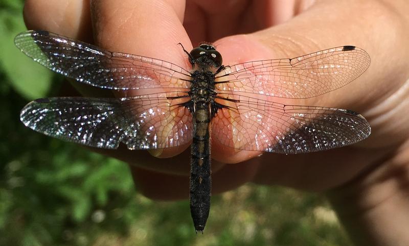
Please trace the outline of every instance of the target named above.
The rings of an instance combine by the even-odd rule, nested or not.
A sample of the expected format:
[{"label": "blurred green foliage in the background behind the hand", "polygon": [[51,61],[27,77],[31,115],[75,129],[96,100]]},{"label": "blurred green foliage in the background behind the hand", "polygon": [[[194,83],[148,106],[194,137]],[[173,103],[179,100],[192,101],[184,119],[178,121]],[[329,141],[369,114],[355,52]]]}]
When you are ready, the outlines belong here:
[{"label": "blurred green foliage in the background behind the hand", "polygon": [[0,245],[350,245],[321,196],[255,185],[213,196],[196,235],[187,201],[146,199],[125,163],[25,128],[21,108],[58,83],[14,47],[21,10],[0,0]]}]

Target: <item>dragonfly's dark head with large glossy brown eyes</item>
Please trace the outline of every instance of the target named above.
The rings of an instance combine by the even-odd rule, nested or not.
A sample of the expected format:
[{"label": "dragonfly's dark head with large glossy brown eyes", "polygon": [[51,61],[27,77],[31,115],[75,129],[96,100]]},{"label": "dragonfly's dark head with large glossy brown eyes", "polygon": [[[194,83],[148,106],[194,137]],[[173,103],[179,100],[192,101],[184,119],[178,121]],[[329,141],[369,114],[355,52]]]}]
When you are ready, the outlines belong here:
[{"label": "dragonfly's dark head with large glossy brown eyes", "polygon": [[189,61],[196,69],[217,70],[221,66],[223,59],[213,45],[202,43],[190,52]]}]

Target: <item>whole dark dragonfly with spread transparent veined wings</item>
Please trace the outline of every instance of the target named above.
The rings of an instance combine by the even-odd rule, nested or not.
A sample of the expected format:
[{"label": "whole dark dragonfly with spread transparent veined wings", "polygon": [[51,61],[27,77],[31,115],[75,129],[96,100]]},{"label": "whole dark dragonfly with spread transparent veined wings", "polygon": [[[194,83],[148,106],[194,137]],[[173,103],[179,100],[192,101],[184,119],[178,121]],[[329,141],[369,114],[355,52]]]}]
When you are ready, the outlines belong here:
[{"label": "whole dark dragonfly with spread transparent veined wings", "polygon": [[299,154],[356,143],[368,121],[347,109],[284,104],[343,87],[370,65],[361,48],[344,45],[292,59],[222,64],[212,44],[191,52],[191,67],[110,52],[48,31],[18,34],[34,61],[79,83],[122,96],[50,97],[27,104],[22,123],[62,140],[129,150],[191,145],[190,210],[203,233],[210,211],[211,142],[256,152]]}]

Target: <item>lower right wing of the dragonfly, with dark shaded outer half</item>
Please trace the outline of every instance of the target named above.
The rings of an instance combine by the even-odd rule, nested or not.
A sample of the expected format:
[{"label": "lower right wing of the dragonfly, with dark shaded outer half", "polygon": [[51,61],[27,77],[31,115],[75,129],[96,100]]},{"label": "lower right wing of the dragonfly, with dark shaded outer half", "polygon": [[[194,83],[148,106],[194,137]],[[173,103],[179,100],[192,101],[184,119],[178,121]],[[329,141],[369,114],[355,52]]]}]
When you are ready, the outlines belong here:
[{"label": "lower right wing of the dragonfly, with dark shaded outer half", "polygon": [[212,139],[235,149],[308,153],[346,146],[371,133],[368,121],[350,110],[283,105],[237,95],[235,100],[240,102],[219,100],[230,106],[219,109],[212,121]]}]

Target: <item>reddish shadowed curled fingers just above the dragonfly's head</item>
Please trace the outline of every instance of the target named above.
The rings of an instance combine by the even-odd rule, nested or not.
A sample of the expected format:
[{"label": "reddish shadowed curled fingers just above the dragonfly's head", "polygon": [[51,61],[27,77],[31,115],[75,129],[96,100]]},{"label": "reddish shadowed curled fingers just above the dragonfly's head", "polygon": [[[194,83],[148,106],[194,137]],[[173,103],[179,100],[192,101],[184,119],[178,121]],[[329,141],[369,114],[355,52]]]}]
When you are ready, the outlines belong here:
[{"label": "reddish shadowed curled fingers just above the dragonfly's head", "polygon": [[307,9],[310,0],[201,1],[186,3],[184,27],[193,46],[238,33],[253,33],[291,19]]}]

